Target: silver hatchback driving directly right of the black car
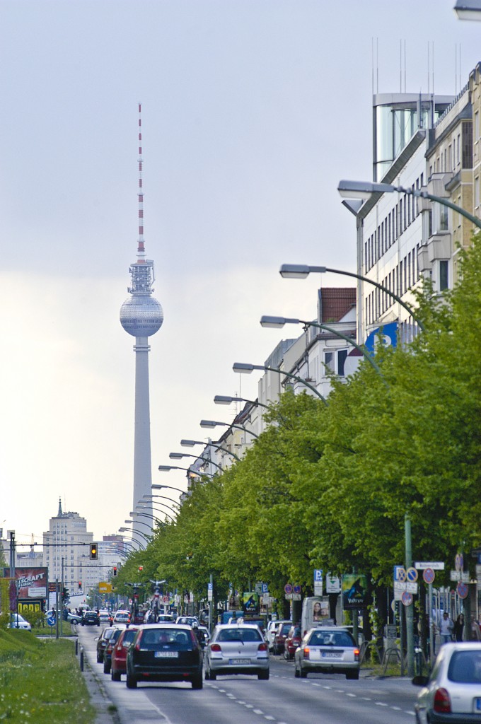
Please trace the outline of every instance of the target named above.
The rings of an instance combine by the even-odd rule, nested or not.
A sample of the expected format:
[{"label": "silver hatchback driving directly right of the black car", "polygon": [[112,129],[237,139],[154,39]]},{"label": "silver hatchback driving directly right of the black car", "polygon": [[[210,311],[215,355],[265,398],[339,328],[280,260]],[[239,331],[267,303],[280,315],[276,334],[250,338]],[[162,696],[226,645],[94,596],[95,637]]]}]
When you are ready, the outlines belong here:
[{"label": "silver hatchback driving directly right of the black car", "polygon": [[269,647],[257,626],[221,624],[214,628],[205,651],[205,678],[219,674],[251,674],[269,678]]}]

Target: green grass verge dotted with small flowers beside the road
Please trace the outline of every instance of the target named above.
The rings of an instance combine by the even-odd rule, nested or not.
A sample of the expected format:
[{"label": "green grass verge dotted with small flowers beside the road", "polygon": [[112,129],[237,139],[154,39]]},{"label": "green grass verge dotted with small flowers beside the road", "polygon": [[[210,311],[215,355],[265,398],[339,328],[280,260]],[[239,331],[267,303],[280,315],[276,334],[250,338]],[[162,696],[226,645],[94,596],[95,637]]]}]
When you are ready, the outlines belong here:
[{"label": "green grass verge dotted with small flowers beside the road", "polygon": [[0,723],[93,724],[73,641],[0,630]]}]

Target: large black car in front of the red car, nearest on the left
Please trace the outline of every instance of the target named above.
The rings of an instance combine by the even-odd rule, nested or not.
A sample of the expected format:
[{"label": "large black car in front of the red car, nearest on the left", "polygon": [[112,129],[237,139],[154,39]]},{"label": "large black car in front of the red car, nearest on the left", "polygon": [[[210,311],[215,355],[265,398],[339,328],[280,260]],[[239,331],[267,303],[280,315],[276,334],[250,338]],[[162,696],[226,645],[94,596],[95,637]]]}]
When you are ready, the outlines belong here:
[{"label": "large black car in front of the red car, nearest on the left", "polygon": [[127,689],[143,681],[190,681],[193,689],[202,689],[202,664],[202,650],[191,626],[144,624],[127,651]]}]

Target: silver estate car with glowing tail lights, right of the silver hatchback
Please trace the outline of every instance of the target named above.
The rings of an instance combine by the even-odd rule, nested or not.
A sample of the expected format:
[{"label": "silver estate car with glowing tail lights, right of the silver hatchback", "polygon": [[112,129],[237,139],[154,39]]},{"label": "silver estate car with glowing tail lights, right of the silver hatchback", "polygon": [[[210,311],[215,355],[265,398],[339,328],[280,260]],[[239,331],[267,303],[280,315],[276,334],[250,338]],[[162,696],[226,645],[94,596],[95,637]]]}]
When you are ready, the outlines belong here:
[{"label": "silver estate car with glowing tail lights, right of the silver hatchback", "polygon": [[347,628],[317,626],[310,628],[294,654],[294,675],[306,678],[309,673],[346,674],[359,678],[359,647]]}]

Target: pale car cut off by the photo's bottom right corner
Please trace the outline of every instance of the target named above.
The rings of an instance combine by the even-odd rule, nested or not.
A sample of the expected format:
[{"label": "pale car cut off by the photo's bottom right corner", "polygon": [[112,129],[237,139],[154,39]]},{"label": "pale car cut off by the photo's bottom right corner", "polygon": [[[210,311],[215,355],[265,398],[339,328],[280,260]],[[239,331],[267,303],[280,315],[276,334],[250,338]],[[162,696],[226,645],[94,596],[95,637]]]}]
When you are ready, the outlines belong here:
[{"label": "pale car cut off by the photo's bottom right corner", "polygon": [[414,704],[418,724],[481,722],[481,641],[443,644]]}]

